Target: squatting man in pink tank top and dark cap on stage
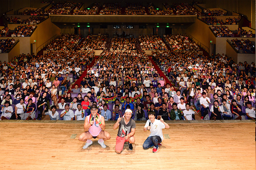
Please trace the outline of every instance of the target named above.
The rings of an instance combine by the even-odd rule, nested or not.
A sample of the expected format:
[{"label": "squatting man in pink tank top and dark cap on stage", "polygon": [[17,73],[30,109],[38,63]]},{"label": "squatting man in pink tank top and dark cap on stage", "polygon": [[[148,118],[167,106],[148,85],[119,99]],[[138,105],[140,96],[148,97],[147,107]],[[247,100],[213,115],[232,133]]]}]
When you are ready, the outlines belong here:
[{"label": "squatting man in pink tank top and dark cap on stage", "polygon": [[92,141],[92,138],[98,138],[98,143],[102,148],[106,148],[104,141],[110,139],[110,134],[105,129],[104,117],[98,113],[97,105],[91,106],[91,114],[85,117],[84,120],[84,133],[79,136],[79,141],[86,142],[83,149],[88,148]]}]

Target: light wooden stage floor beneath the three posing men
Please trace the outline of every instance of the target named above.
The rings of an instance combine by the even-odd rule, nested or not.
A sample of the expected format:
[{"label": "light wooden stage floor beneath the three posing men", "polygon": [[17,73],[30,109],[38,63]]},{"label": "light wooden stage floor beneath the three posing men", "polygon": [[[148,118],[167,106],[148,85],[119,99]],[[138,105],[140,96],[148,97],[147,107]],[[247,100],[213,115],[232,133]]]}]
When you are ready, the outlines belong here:
[{"label": "light wooden stage floor beneath the three posing men", "polygon": [[82,149],[78,136],[83,122],[3,120],[0,169],[255,169],[255,121],[202,122],[168,122],[170,129],[163,133],[170,139],[164,139],[157,153],[143,150],[149,132],[143,132],[144,122],[136,122],[133,151],[125,143],[116,154],[113,122],[106,124],[111,135],[107,148],[93,139]]}]

